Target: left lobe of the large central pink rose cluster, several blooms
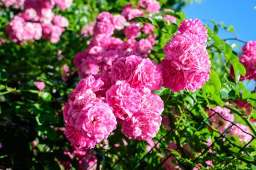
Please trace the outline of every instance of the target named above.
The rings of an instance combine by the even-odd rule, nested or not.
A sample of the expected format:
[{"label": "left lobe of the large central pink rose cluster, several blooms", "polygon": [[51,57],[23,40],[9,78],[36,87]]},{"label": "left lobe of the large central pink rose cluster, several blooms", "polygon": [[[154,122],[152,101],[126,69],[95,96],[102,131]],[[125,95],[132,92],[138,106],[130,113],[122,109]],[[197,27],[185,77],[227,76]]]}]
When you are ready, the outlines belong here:
[{"label": "left lobe of the large central pink rose cluster, several blooms", "polygon": [[92,76],[82,79],[65,104],[65,135],[77,148],[94,148],[117,126],[113,109],[94,93],[102,86],[103,81]]}]

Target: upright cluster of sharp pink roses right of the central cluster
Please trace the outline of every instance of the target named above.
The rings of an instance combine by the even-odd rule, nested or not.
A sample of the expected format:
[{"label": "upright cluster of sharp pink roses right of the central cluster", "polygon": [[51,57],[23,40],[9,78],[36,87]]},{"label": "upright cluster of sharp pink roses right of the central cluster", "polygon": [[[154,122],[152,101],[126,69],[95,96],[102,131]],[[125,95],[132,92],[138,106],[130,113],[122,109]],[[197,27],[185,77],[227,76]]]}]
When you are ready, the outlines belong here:
[{"label": "upright cluster of sharp pink roses right of the central cluster", "polygon": [[208,81],[211,62],[206,50],[207,30],[199,19],[181,23],[178,34],[164,46],[164,87],[172,91],[201,89]]}]

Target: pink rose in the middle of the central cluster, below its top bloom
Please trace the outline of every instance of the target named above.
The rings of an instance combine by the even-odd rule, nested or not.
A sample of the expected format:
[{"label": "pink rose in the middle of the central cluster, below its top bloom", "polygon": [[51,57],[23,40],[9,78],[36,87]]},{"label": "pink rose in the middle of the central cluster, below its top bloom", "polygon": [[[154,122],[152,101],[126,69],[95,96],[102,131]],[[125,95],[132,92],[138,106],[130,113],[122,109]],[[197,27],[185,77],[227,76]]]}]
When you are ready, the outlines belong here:
[{"label": "pink rose in the middle of the central cluster, below its top bloom", "polygon": [[115,116],[122,120],[131,118],[141,107],[141,93],[127,81],[117,81],[106,91],[106,101],[115,110]]}]

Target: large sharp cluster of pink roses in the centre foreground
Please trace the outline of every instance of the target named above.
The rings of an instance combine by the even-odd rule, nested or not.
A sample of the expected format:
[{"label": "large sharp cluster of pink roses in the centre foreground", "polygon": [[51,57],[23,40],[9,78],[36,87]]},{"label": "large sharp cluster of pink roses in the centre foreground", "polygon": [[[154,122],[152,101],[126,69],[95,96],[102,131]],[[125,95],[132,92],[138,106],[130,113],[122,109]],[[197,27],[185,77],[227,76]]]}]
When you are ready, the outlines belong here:
[{"label": "large sharp cluster of pink roses in the centre foreground", "polygon": [[161,85],[162,71],[154,61],[135,52],[119,55],[110,72],[89,75],[70,93],[63,110],[65,135],[73,146],[93,148],[118,122],[129,138],[154,138],[164,103],[152,90]]}]

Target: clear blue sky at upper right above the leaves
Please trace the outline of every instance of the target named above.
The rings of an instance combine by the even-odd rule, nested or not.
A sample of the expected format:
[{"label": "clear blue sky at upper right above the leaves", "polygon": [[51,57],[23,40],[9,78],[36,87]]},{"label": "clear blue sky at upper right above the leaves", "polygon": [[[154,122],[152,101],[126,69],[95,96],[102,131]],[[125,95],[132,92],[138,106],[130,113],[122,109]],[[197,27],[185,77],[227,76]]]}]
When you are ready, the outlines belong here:
[{"label": "clear blue sky at upper right above the leaves", "polygon": [[[234,27],[234,34],[245,42],[249,40],[256,41],[256,0],[201,0],[201,3],[191,3],[185,6],[184,10],[187,18],[198,18],[207,24],[206,20],[213,19],[218,24],[224,22],[226,26]],[[226,31],[221,31],[220,38],[234,38],[236,35]],[[243,46],[243,43],[230,41],[230,44],[236,43]],[[252,90],[255,87],[255,81],[248,85]]]}]

